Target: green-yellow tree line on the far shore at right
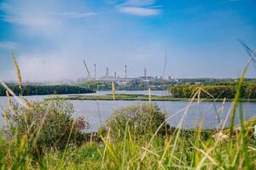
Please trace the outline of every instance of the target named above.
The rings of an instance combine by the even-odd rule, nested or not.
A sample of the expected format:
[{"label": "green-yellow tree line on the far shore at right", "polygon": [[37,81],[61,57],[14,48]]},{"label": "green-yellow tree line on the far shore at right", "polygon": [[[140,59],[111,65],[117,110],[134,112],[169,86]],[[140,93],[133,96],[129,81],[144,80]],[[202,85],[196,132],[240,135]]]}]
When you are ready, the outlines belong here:
[{"label": "green-yellow tree line on the far shore at right", "polygon": [[[233,99],[236,95],[236,83],[220,83],[212,85],[177,85],[169,88],[169,92],[176,98],[191,98],[195,92],[202,88],[201,98],[227,98]],[[256,82],[243,82],[241,98],[256,99]]]}]

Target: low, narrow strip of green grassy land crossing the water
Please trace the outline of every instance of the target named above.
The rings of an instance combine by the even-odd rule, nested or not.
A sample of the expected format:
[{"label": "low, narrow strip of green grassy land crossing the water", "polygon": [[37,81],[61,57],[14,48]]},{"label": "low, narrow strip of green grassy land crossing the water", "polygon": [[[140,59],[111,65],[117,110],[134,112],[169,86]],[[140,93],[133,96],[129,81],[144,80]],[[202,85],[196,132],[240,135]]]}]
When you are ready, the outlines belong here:
[{"label": "low, narrow strip of green grassy land crossing the water", "polygon": [[[67,100],[113,100],[113,95],[68,95],[68,96],[56,96],[51,97],[46,100],[55,100],[55,99],[67,99]],[[138,100],[138,101],[148,101],[148,95],[143,94],[116,94],[114,95],[114,100]],[[173,98],[172,96],[157,96],[152,95],[151,101],[191,101],[189,98]],[[195,102],[198,99],[194,100]],[[201,102],[223,102],[224,99],[200,99]],[[225,101],[233,101],[233,99],[225,99]],[[256,99],[241,99],[242,102],[256,102]]]}]

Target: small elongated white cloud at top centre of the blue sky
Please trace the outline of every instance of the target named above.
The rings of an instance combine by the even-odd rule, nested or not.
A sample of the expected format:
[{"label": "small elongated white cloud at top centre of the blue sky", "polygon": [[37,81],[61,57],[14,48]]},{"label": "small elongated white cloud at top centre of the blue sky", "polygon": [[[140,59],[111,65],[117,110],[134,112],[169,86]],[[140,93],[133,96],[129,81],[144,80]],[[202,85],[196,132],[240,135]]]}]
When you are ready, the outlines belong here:
[{"label": "small elongated white cloud at top centre of the blue sky", "polygon": [[160,14],[160,9],[142,7],[120,7],[119,12],[138,16],[153,16]]}]

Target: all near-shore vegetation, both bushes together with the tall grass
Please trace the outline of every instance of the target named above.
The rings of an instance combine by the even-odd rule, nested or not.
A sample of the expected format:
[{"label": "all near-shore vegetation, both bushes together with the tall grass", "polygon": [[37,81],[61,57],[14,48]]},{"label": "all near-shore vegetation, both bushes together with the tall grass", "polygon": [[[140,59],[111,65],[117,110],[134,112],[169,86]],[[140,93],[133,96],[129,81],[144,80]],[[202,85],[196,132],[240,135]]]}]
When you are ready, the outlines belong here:
[{"label": "all near-shore vegetation, both bushes together with the tall grass", "polygon": [[[113,112],[96,133],[67,101],[10,105],[0,135],[1,169],[253,169],[256,119],[241,126],[170,128],[156,105]],[[184,112],[183,117],[186,115]],[[230,127],[233,125],[230,122]]]}]

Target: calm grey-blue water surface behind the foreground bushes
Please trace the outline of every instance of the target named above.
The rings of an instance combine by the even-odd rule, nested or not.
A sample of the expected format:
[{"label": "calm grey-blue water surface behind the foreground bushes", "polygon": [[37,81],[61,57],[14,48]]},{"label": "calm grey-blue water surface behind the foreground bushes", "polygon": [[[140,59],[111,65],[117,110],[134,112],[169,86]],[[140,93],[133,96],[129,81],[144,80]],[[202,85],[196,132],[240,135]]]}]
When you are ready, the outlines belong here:
[{"label": "calm grey-blue water surface behind the foreground bushes", "polygon": [[[111,94],[109,91],[102,91],[97,92],[96,94]],[[119,92],[121,94],[147,94],[147,91],[122,91]],[[163,95],[163,91],[152,91],[151,94],[153,95]],[[92,94],[92,95],[96,95]],[[29,100],[41,100],[47,98],[49,96],[27,96],[26,98]],[[147,103],[147,101],[81,101],[81,100],[74,100],[71,101],[75,108],[74,116],[84,116],[90,123],[90,132],[96,131],[100,127],[100,119],[99,114],[102,116],[102,121],[104,122],[111,113],[115,109],[119,109],[124,106],[128,105],[137,105]],[[100,113],[97,110],[97,102],[99,103]],[[184,114],[184,108],[189,105],[189,102],[183,101],[160,101],[160,102],[153,102],[156,105],[159,105],[162,111],[166,111],[167,117],[169,117],[168,121],[172,127],[176,127],[177,123],[181,120]],[[0,105],[6,106],[6,97],[0,97]],[[231,103],[227,102],[224,105],[223,110],[219,110],[221,108],[222,103],[216,102],[201,102],[201,103],[193,103],[185,116],[185,128],[193,128],[198,126],[201,122],[202,118],[204,118],[204,128],[212,128],[218,125],[218,119],[216,113],[219,112],[219,120],[224,121],[224,118],[228,115]],[[256,116],[256,103],[243,103],[243,112],[246,118]],[[219,111],[218,111],[219,110]],[[180,111],[178,113],[178,111]],[[171,118],[170,118],[171,117]],[[236,117],[236,124],[239,123],[238,117]],[[0,117],[0,124],[3,124],[3,117]],[[227,122],[229,125],[229,122]]]}]

